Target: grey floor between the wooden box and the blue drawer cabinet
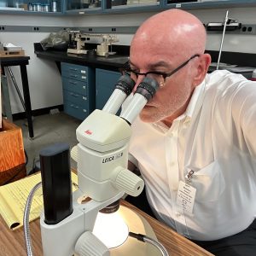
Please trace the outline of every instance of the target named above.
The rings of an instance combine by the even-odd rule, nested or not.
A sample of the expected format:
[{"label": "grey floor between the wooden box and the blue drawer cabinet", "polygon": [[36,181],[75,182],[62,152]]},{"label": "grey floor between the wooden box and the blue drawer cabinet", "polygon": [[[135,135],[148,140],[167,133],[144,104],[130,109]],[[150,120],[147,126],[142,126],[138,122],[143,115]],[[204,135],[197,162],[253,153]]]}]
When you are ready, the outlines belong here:
[{"label": "grey floor between the wooden box and the blue drawer cabinet", "polygon": [[[79,119],[66,113],[44,114],[33,119],[34,138],[28,137],[26,119],[15,121],[22,129],[23,143],[28,157],[26,172],[30,172],[34,163],[39,160],[39,151],[53,143],[68,143],[70,148],[76,145],[76,129],[80,125]],[[71,160],[71,166],[76,163]]]}]

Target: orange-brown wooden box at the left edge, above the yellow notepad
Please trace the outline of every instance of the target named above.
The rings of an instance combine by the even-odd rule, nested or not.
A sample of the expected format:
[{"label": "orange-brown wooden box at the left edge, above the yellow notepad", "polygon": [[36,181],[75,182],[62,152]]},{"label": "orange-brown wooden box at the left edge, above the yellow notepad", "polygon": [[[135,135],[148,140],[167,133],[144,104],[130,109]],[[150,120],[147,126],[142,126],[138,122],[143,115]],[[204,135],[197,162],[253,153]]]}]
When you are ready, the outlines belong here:
[{"label": "orange-brown wooden box at the left edge, above the yellow notepad", "polygon": [[20,127],[3,119],[0,129],[0,186],[25,177],[25,162]]}]

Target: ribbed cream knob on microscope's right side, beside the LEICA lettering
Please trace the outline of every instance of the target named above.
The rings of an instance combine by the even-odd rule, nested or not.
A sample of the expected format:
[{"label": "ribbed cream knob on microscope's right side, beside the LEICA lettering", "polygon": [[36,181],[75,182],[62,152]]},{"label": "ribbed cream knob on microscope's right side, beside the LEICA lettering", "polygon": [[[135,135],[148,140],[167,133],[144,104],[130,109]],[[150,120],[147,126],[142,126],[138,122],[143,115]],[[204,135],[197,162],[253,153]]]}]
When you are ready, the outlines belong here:
[{"label": "ribbed cream knob on microscope's right side, beside the LEICA lettering", "polygon": [[143,179],[127,169],[123,169],[118,173],[115,185],[118,189],[132,196],[140,195],[144,188]]}]

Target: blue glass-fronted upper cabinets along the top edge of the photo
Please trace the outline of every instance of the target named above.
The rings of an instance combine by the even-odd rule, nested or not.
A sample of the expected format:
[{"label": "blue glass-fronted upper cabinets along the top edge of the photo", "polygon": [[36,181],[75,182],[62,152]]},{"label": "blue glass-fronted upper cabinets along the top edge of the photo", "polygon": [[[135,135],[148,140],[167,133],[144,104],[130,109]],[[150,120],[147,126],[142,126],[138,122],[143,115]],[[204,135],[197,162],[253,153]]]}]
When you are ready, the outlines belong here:
[{"label": "blue glass-fronted upper cabinets along the top edge of the photo", "polygon": [[0,0],[0,14],[99,15],[251,6],[256,0]]}]

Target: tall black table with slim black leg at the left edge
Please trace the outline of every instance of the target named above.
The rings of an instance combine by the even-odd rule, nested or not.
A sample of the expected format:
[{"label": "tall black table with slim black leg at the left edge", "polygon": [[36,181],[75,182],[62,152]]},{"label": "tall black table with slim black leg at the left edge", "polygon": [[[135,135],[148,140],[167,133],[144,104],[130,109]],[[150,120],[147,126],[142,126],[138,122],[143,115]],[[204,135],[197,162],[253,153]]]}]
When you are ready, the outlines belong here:
[{"label": "tall black table with slim black leg at the left edge", "polygon": [[[28,86],[28,79],[26,73],[26,65],[30,60],[29,56],[15,56],[15,57],[0,57],[1,67],[20,66],[20,75],[22,81],[23,97],[25,102],[26,119],[28,125],[29,137],[34,137],[33,124],[32,124],[32,109],[30,101],[30,93]],[[2,255],[1,255],[2,256]]]}]

